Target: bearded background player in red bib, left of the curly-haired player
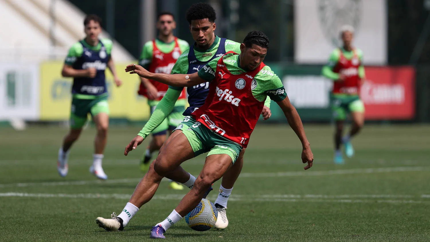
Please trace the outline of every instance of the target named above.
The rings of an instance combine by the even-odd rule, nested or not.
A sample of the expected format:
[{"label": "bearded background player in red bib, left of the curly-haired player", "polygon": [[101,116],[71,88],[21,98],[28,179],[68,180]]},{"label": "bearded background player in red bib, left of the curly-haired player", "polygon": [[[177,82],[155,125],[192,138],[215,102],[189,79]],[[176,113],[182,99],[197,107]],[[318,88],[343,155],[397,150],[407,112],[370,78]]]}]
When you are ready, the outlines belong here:
[{"label": "bearded background player in red bib, left of the curly-haired player", "polygon": [[[176,22],[171,12],[161,12],[157,16],[158,37],[155,40],[148,41],[143,46],[142,54],[139,58],[139,64],[148,70],[155,73],[170,74],[173,66],[179,56],[190,48],[190,45],[185,40],[180,40],[173,35],[173,30],[176,28]],[[151,108],[151,114],[154,112],[157,104],[166,94],[169,86],[153,80],[148,80],[141,77],[141,84],[138,94],[148,98],[148,104]],[[166,133],[172,133],[178,126],[184,116],[182,113],[185,110],[186,94],[182,91],[178,101],[176,101],[172,111],[166,116],[160,125],[152,131],[152,140],[146,149],[142,159],[140,168],[142,172],[147,172],[151,164],[152,153],[160,150],[161,146],[166,141]],[[170,187],[175,190],[182,190],[184,186],[171,181]]]}]

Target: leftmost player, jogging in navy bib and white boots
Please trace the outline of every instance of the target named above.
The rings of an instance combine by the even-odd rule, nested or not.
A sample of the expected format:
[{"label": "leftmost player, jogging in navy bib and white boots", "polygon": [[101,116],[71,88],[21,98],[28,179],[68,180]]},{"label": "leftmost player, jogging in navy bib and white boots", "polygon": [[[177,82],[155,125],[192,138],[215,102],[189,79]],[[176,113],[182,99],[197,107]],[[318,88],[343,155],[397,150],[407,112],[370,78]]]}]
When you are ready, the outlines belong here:
[{"label": "leftmost player, jogging in navy bib and white boots", "polygon": [[79,138],[82,127],[87,121],[88,113],[97,127],[95,136],[93,163],[89,171],[97,178],[107,179],[101,167],[103,151],[107,140],[109,126],[109,106],[104,70],[106,67],[114,75],[116,86],[121,86],[117,77],[114,61],[111,58],[112,41],[99,40],[101,18],[88,15],[84,20],[86,37],[75,43],[69,50],[61,72],[63,77],[73,77],[72,105],[70,114],[70,132],[64,137],[58,151],[57,170],[60,176],[68,173],[68,154],[70,147]]}]

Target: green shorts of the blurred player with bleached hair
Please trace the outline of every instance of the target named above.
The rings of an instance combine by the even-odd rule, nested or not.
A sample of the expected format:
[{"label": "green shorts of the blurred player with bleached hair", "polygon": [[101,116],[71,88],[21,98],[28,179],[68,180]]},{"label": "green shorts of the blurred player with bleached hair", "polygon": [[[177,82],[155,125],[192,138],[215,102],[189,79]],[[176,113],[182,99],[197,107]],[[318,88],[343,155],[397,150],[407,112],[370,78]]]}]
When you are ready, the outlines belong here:
[{"label": "green shorts of the blurred player with bleached hair", "polygon": [[332,111],[335,120],[345,120],[348,113],[364,113],[364,104],[358,95],[332,95]]}]

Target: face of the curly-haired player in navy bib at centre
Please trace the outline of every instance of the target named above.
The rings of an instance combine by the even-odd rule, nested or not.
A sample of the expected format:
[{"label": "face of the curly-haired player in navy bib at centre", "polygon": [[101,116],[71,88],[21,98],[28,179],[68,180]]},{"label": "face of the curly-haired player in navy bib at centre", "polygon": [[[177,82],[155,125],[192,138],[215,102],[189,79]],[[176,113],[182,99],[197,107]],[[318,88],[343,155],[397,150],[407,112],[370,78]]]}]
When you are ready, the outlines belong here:
[{"label": "face of the curly-haired player in navy bib at centre", "polygon": [[215,29],[215,23],[211,23],[207,18],[191,20],[190,32],[197,46],[202,49],[209,48],[209,45],[213,43],[215,39]]}]

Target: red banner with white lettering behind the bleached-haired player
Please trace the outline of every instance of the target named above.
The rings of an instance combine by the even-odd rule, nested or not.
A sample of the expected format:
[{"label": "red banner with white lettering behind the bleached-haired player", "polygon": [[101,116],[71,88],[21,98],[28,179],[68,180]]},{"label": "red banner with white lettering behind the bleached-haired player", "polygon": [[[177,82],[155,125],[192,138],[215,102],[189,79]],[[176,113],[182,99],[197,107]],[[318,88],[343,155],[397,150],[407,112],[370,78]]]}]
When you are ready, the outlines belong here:
[{"label": "red banner with white lettering behind the bleached-haired player", "polygon": [[415,69],[413,67],[366,67],[360,96],[366,119],[415,117]]}]

